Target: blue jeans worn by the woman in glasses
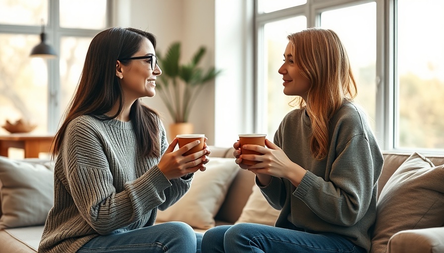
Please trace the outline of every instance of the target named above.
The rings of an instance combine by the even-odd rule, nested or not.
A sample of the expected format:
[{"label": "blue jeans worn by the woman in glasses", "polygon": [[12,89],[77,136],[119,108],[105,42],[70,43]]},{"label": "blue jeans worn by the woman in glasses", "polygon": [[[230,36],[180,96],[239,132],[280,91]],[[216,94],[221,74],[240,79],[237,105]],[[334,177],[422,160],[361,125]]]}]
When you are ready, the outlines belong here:
[{"label": "blue jeans worn by the woman in glasses", "polygon": [[202,234],[183,222],[166,222],[91,239],[77,253],[200,253]]}]

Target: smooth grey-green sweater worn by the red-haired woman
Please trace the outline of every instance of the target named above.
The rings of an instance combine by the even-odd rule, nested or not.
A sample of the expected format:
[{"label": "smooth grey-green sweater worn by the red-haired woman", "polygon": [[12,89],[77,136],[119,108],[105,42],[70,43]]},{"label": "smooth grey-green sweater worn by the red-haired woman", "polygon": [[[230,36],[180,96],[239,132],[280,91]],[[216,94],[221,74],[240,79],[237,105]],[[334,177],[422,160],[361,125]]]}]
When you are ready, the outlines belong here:
[{"label": "smooth grey-green sweater worn by the red-haired woman", "polygon": [[310,152],[311,135],[305,109],[288,113],[275,134],[275,144],[307,169],[297,188],[277,177],[261,187],[270,204],[281,209],[276,226],[336,233],[368,252],[384,161],[366,116],[345,103],[330,121],[330,146],[321,161]]}]

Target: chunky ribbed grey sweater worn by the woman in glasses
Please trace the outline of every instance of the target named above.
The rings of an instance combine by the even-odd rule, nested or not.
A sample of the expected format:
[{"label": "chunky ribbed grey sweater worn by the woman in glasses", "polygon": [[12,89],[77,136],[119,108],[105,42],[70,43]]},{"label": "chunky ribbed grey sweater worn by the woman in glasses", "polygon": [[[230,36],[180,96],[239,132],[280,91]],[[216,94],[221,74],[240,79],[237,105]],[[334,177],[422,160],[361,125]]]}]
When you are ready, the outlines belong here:
[{"label": "chunky ribbed grey sweater worn by the woman in glasses", "polygon": [[[166,151],[165,129],[161,150]],[[54,170],[54,207],[39,252],[76,252],[99,235],[151,226],[192,176],[168,180],[160,157],[142,157],[131,122],[80,116],[69,123]]]}]

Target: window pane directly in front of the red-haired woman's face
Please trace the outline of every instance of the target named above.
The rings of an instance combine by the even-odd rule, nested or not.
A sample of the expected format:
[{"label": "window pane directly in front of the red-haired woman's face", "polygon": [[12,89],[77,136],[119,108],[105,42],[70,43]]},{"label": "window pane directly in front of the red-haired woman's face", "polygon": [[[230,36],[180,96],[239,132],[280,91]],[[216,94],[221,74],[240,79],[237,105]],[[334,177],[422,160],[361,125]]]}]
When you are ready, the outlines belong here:
[{"label": "window pane directly in front of the red-haired woman's face", "polygon": [[[263,55],[262,74],[264,75],[263,85],[265,87],[263,106],[267,110],[267,114],[261,113],[264,124],[266,124],[267,138],[273,140],[277,127],[283,117],[293,109],[288,103],[294,99],[293,96],[287,96],[283,93],[282,75],[277,70],[283,63],[283,53],[287,46],[287,35],[301,31],[307,27],[307,19],[305,16],[292,17],[267,23],[264,26],[264,52]],[[262,104],[262,102],[261,102]]]}]

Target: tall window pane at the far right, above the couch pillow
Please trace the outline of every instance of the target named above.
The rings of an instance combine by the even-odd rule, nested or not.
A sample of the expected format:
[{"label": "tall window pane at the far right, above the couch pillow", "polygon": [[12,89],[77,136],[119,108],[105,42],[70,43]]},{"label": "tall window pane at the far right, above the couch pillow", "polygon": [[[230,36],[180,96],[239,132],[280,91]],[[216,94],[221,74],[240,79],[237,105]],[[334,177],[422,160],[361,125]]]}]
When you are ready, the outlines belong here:
[{"label": "tall window pane at the far right, above the couch pillow", "polygon": [[397,1],[397,148],[444,148],[444,1]]}]

